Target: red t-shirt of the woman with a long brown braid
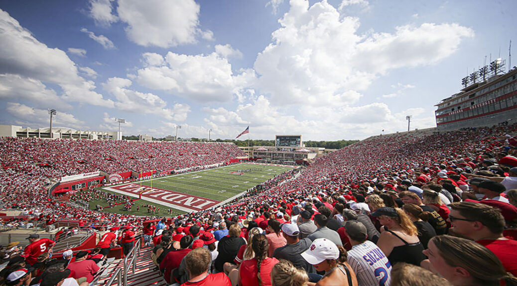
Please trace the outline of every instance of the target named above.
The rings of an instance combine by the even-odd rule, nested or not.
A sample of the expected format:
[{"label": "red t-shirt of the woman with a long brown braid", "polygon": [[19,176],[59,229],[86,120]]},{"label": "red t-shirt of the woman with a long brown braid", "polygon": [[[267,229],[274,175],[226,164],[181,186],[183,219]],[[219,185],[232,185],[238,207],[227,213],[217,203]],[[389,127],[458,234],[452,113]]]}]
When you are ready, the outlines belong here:
[{"label": "red t-shirt of the woman with a long brown braid", "polygon": [[[266,258],[260,266],[262,286],[271,286],[271,270],[278,263],[276,258]],[[256,258],[242,261],[240,264],[240,282],[242,286],[258,286]]]}]

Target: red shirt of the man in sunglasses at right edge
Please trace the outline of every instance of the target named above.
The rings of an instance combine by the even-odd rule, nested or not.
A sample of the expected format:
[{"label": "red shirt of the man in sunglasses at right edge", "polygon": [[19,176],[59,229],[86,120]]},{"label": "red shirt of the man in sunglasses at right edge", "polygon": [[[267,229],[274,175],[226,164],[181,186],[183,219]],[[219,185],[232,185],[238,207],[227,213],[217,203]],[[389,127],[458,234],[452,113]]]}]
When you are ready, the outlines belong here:
[{"label": "red shirt of the man in sunglasses at right edge", "polygon": [[504,240],[478,240],[477,243],[484,245],[490,249],[497,258],[503,263],[505,270],[517,275],[517,259],[515,254],[517,253],[517,241],[511,239]]}]

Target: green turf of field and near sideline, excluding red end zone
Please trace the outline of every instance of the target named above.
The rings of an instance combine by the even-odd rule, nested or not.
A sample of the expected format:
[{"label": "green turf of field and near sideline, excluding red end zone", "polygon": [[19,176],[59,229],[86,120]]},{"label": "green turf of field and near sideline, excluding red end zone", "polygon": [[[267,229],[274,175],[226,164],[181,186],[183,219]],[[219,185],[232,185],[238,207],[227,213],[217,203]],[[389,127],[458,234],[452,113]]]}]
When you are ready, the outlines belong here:
[{"label": "green turf of field and near sideline, excluding red end zone", "polygon": [[[230,172],[239,172],[247,169],[257,169],[251,172],[242,172],[244,175],[231,174]],[[204,170],[199,172],[185,173],[179,175],[172,175],[168,177],[160,177],[152,180],[145,180],[141,183],[142,186],[148,186],[158,189],[175,191],[189,195],[195,195],[207,199],[214,199],[224,201],[233,196],[236,196],[254,186],[261,184],[275,176],[278,176],[286,171],[293,170],[293,167],[271,166],[261,164],[236,164],[230,166],[219,167],[217,169]],[[109,190],[106,192],[113,193]],[[101,204],[102,203],[102,204]],[[140,212],[136,212],[136,205],[132,211],[124,211],[123,205],[105,209],[106,212],[134,214],[134,215],[152,215],[147,213],[147,208],[142,205],[151,204],[160,208],[159,215],[166,215],[169,207],[150,203],[142,197],[135,201],[136,205],[140,205]],[[95,207],[96,204],[106,206],[106,203],[98,201],[90,201],[90,207]],[[171,208],[172,209],[172,208]],[[183,214],[184,211],[172,209],[173,215]]]}]

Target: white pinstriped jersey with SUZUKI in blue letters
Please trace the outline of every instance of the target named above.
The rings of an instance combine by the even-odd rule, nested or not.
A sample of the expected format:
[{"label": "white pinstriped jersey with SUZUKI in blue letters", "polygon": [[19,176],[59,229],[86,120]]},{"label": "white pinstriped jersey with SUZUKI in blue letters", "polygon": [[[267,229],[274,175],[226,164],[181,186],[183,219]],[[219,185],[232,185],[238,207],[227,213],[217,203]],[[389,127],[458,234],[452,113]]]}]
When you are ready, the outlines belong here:
[{"label": "white pinstriped jersey with SUZUKI in blue letters", "polygon": [[391,263],[373,242],[367,240],[352,246],[347,260],[359,286],[389,286]]}]

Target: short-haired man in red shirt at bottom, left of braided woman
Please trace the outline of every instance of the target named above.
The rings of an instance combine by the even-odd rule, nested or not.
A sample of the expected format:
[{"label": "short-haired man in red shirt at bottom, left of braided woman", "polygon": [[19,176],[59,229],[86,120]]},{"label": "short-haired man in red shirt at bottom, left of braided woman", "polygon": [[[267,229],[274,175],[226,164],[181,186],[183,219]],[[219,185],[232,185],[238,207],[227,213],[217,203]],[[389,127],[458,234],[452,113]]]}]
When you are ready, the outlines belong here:
[{"label": "short-haired man in red shirt at bottom, left of braided woman", "polygon": [[190,251],[185,257],[190,279],[181,286],[231,286],[232,282],[224,272],[208,273],[211,260],[210,251],[206,248],[199,247]]}]

